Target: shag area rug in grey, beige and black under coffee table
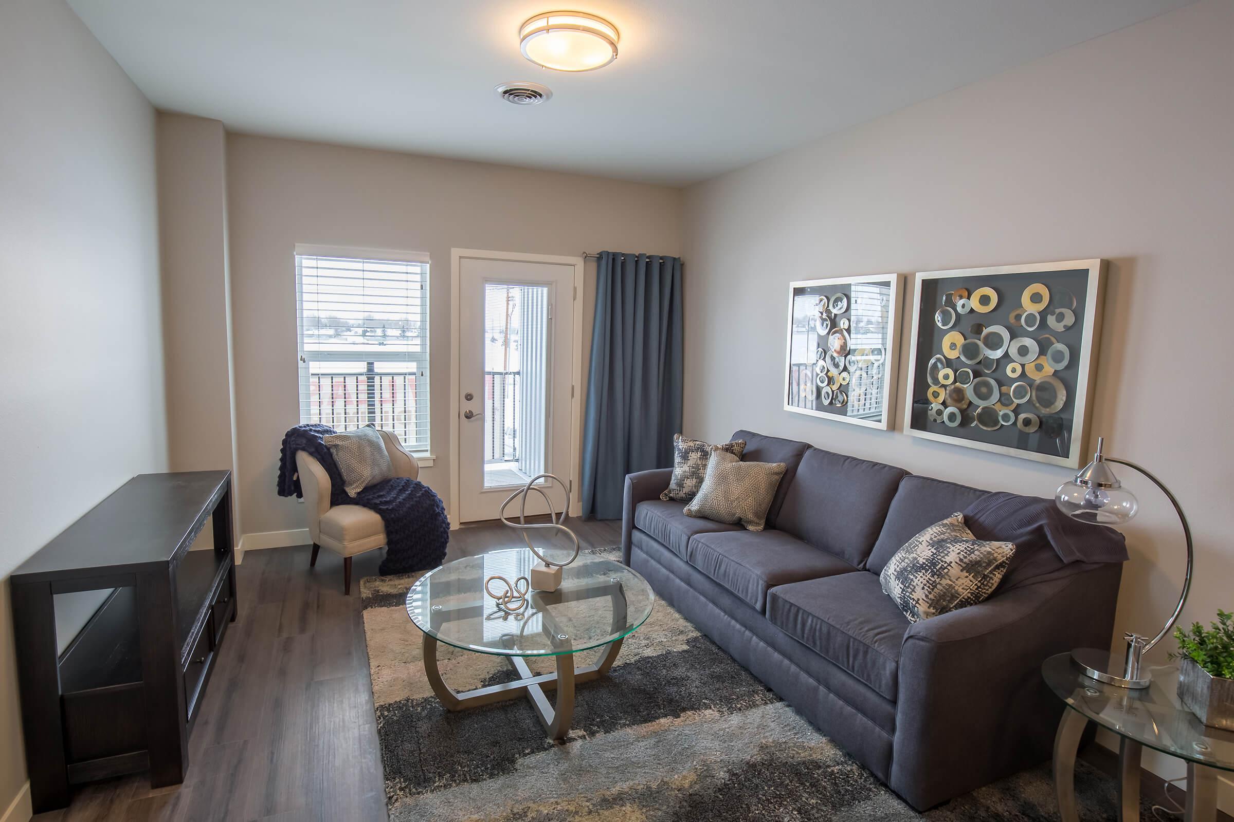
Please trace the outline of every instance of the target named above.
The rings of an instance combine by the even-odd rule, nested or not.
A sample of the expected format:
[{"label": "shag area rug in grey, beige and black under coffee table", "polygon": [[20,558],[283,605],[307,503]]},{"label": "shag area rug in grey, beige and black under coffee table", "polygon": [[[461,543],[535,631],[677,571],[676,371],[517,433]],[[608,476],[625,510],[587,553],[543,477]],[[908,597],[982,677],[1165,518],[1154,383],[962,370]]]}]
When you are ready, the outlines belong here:
[{"label": "shag area rug in grey, beige and black under coffee table", "polygon": [[[579,562],[596,556],[619,555]],[[545,737],[526,698],[452,714],[404,605],[418,577],[360,583],[392,822],[1059,818],[1048,764],[917,813],[661,600],[608,675],[576,688],[564,743]],[[455,690],[515,678],[502,658],[444,645],[438,663]],[[1112,779],[1080,763],[1076,790],[1085,822],[1114,822]],[[1143,820],[1154,820],[1148,806]]]}]

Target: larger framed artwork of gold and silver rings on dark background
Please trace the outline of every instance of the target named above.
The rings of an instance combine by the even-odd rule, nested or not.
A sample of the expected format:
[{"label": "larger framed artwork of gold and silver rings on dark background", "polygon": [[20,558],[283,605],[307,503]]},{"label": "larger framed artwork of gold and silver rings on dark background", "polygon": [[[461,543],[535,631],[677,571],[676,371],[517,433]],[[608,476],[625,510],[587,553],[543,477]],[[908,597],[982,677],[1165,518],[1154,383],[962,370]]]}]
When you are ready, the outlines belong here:
[{"label": "larger framed artwork of gold and silver rings on dark background", "polygon": [[903,431],[1079,468],[1104,260],[922,271]]}]

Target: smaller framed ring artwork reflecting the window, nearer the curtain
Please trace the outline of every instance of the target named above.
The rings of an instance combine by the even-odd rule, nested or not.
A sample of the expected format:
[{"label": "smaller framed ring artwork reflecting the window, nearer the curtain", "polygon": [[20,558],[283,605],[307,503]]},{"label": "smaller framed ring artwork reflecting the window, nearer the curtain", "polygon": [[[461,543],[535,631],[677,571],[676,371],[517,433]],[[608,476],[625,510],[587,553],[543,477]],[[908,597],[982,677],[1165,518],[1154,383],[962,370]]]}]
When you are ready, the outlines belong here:
[{"label": "smaller framed ring artwork reflecting the window, nearer the curtain", "polygon": [[789,283],[785,410],[891,428],[901,282],[876,274]]}]

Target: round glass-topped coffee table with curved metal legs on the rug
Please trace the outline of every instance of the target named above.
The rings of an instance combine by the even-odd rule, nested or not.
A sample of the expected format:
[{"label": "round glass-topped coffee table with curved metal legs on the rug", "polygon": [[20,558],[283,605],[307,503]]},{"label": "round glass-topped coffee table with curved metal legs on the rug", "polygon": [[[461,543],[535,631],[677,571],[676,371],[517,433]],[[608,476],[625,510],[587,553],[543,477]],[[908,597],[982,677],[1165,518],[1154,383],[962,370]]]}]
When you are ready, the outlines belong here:
[{"label": "round glass-topped coffee table with curved metal legs on the rug", "polygon": [[[507,590],[500,580],[486,590],[491,577],[511,584],[531,577],[534,563],[527,548],[447,562],[407,592],[407,615],[424,632],[424,673],[447,709],[462,711],[526,695],[549,737],[563,739],[574,716],[575,684],[608,673],[622,641],[652,615],[655,593],[619,562],[586,555],[561,569],[557,590],[529,590],[521,606],[517,598],[505,608],[499,604]],[[438,642],[505,657],[520,678],[459,694],[437,669]],[[600,648],[595,664],[576,667],[575,654],[595,648]],[[533,674],[528,657],[555,657],[557,673]],[[547,690],[557,691],[552,704]]]}]

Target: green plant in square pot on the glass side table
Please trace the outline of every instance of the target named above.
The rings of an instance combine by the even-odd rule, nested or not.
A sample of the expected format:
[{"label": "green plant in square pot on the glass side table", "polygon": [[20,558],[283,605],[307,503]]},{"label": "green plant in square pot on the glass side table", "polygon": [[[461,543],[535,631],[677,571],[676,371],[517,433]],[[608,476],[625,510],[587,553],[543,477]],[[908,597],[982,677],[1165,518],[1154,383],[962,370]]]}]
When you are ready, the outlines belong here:
[{"label": "green plant in square pot on the glass side table", "polygon": [[1217,611],[1209,630],[1175,629],[1178,641],[1178,699],[1204,725],[1234,731],[1234,614]]}]

